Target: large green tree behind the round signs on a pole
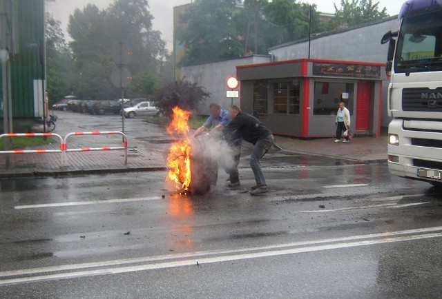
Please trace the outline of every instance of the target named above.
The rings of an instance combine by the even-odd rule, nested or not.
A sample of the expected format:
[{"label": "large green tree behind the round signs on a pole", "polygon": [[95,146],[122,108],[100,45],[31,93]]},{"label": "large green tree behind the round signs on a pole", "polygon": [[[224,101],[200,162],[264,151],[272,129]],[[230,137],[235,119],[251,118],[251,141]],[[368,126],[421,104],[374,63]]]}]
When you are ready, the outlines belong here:
[{"label": "large green tree behind the round signs on a pole", "polygon": [[157,90],[157,77],[167,50],[160,32],[152,29],[153,17],[147,0],[115,0],[105,10],[88,4],[70,16],[68,32],[75,65],[75,93],[83,99],[112,99],[120,96],[111,83],[111,47],[127,43],[133,52],[128,68],[133,85],[128,96],[148,96]]}]

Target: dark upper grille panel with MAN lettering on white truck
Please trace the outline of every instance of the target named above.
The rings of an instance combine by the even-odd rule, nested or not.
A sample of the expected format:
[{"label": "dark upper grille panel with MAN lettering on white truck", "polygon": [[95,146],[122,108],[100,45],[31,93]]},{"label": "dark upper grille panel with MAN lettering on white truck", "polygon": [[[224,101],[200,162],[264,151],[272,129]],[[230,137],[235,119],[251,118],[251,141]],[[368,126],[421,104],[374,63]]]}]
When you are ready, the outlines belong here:
[{"label": "dark upper grille panel with MAN lettering on white truck", "polygon": [[404,88],[402,90],[403,111],[442,112],[442,87]]}]

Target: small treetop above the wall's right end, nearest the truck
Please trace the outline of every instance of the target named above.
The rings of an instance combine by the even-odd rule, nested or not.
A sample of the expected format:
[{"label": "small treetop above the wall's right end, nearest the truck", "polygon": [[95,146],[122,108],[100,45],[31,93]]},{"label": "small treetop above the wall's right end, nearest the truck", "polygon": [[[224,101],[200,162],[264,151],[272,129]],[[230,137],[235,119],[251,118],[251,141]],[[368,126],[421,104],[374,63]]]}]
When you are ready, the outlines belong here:
[{"label": "small treetop above the wall's right end, nearest the truck", "polygon": [[389,17],[387,8],[379,8],[379,2],[372,0],[340,0],[340,7],[334,3],[335,16],[329,22],[329,29],[343,29]]}]

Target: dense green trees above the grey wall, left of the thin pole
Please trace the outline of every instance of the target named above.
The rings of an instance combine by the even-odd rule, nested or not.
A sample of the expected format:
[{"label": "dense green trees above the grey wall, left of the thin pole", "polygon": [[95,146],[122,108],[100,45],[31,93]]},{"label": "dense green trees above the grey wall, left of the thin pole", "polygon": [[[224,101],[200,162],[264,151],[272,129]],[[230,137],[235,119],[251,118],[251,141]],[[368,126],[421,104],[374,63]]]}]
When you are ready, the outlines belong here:
[{"label": "dense green trees above the grey wall, left of the thin pole", "polygon": [[316,6],[294,0],[200,0],[182,16],[178,39],[192,64],[253,54],[324,31]]}]

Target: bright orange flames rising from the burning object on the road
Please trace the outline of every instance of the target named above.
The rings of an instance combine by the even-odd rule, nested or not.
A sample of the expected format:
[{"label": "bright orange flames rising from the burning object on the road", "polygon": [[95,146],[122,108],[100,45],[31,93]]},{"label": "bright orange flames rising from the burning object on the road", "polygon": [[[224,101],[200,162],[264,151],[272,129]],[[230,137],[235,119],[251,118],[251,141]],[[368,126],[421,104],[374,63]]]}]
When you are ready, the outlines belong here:
[{"label": "bright orange flames rising from the burning object on the road", "polygon": [[183,190],[188,190],[191,184],[191,143],[187,136],[190,131],[190,116],[191,112],[174,107],[171,124],[166,127],[171,136],[182,138],[181,141],[172,143],[169,148],[167,155],[169,174],[166,180],[177,183]]}]

